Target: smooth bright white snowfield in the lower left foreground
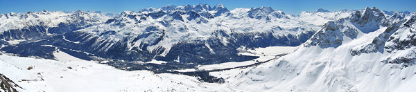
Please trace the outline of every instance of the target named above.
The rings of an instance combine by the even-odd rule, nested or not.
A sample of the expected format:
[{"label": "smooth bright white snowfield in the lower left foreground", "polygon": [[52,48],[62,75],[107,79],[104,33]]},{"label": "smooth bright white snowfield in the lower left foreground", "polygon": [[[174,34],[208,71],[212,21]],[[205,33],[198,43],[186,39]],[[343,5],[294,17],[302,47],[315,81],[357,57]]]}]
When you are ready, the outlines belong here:
[{"label": "smooth bright white snowfield in the lower left foreground", "polygon": [[0,73],[23,91],[227,91],[187,75],[123,71],[87,61],[0,55]]}]

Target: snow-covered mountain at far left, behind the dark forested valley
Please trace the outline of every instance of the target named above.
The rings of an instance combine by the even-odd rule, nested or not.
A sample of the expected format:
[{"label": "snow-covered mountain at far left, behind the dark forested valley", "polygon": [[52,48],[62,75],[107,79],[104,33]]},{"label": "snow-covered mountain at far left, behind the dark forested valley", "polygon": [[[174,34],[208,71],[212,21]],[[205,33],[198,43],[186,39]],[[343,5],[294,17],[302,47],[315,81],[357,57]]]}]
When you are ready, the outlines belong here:
[{"label": "snow-covered mountain at far left, behind the dark forested valley", "polygon": [[[27,12],[0,14],[0,39],[2,45],[17,44],[51,35],[87,28],[110,17],[100,12]],[[6,41],[6,42],[4,42]]]}]

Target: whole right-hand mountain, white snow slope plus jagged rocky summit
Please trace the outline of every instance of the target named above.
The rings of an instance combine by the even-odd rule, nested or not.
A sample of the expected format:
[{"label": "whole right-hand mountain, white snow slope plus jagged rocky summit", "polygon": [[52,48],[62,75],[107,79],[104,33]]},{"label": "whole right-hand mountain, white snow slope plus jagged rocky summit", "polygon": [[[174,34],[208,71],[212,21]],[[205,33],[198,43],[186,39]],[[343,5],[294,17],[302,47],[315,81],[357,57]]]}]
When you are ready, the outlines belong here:
[{"label": "whole right-hand mountain, white snow slope plus jagged rocky summit", "polygon": [[[241,91],[414,91],[411,88],[416,87],[416,45],[413,44],[415,17],[402,20],[405,22],[399,27],[383,27],[383,24],[374,24],[382,23],[379,21],[386,18],[379,19],[379,12],[376,8],[366,8],[354,14],[366,18],[354,20],[352,17],[352,20],[343,19],[343,22],[338,20],[335,23],[330,21],[294,53],[274,61],[211,75],[225,78],[227,87]],[[358,24],[354,21],[368,22],[354,25]],[[392,23],[390,20],[385,22]],[[354,28],[354,37],[343,35],[344,27],[340,27],[367,26],[372,29],[373,24],[379,28]],[[311,44],[316,39],[338,39],[339,43]],[[373,49],[365,47],[376,49],[361,54],[352,51],[363,47],[366,50]]]}]

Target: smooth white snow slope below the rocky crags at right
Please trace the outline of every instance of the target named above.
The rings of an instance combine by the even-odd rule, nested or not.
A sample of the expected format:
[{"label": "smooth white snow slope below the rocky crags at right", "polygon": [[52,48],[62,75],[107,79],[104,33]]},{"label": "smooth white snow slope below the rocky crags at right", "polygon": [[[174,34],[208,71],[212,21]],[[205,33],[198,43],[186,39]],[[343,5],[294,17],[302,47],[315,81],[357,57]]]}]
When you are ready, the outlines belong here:
[{"label": "smooth white snow slope below the rocky crags at right", "polygon": [[[250,68],[212,72],[237,91],[414,91],[416,67],[381,62],[388,53],[352,56],[345,46],[300,48]],[[400,52],[403,53],[403,52]]]}]

